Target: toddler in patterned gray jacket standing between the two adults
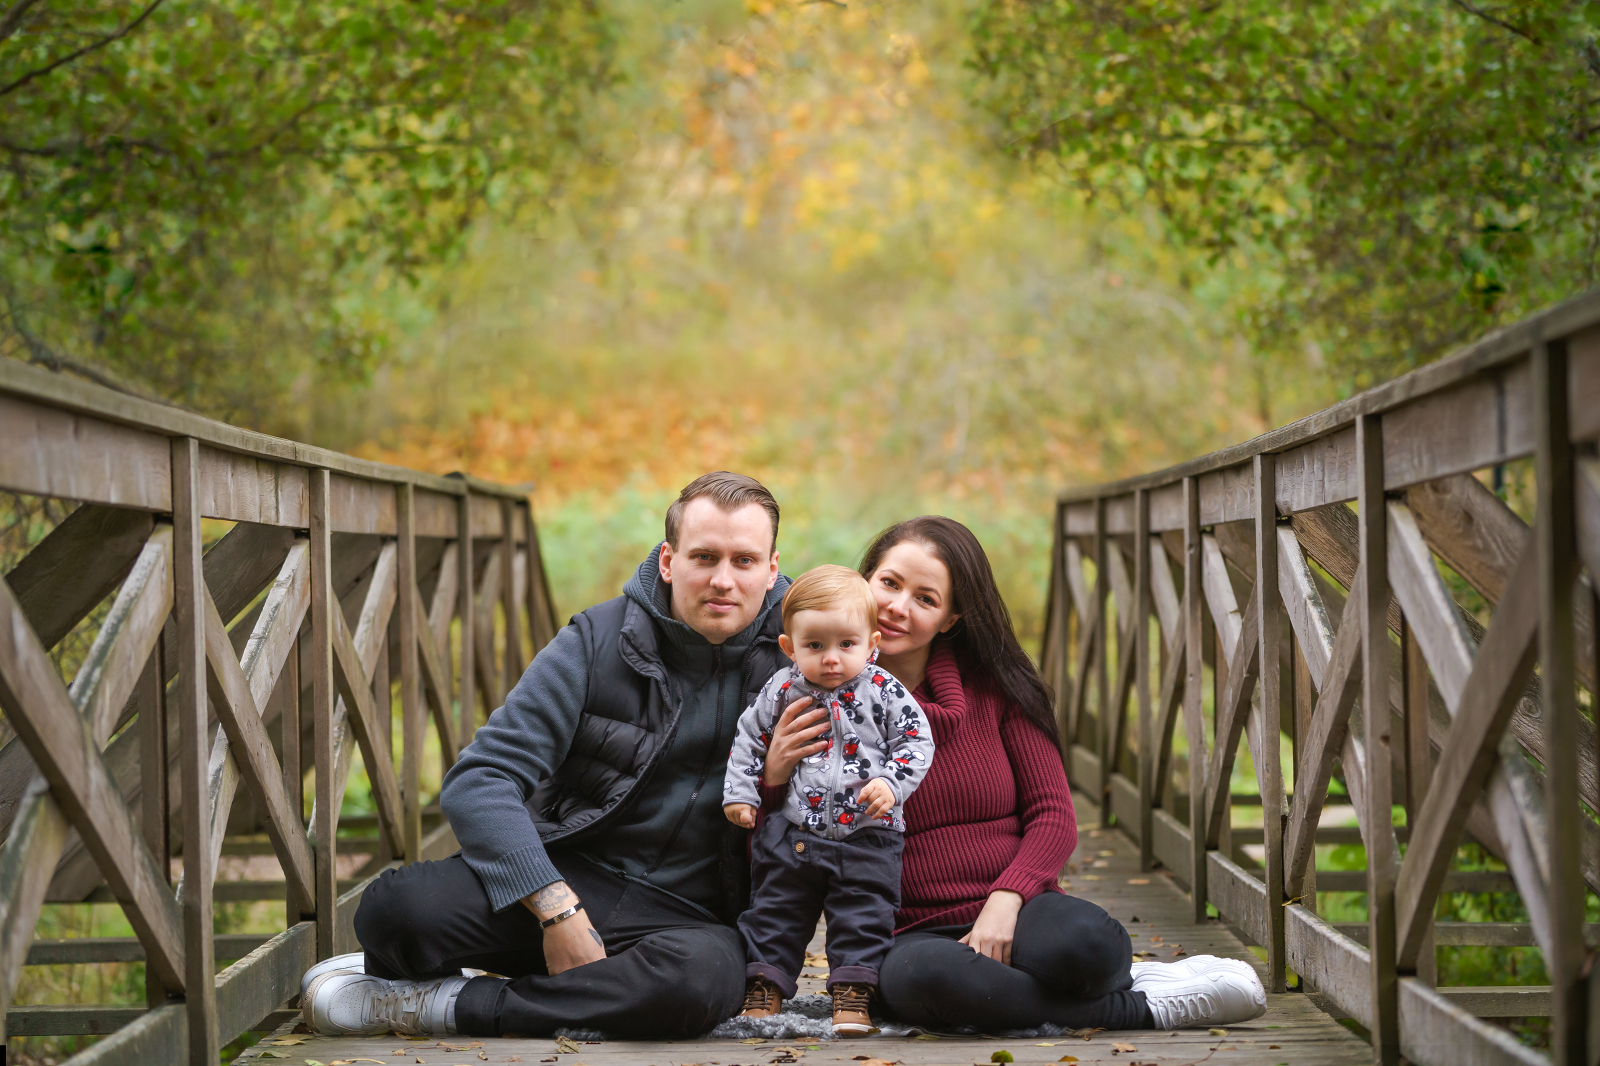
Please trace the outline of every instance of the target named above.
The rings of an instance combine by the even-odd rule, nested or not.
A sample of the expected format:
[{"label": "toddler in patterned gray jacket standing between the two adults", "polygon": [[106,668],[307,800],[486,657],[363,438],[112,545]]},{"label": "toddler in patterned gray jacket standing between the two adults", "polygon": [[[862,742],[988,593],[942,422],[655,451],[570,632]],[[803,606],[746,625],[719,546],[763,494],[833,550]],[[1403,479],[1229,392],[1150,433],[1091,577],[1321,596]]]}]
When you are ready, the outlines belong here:
[{"label": "toddler in patterned gray jacket standing between the two adults", "polygon": [[827,989],[834,1032],[877,1032],[869,1002],[894,943],[899,909],[901,813],[933,759],[922,709],[878,669],[877,603],[846,567],[818,567],[784,594],[778,639],[794,666],[766,682],[739,717],[723,812],[755,826],[766,744],[784,709],[810,696],[829,714],[824,747],[789,778],[782,818],[750,840],[750,908],[739,917],[746,967],[744,1018],[770,1018],[795,994],[818,914],[827,916]]}]

